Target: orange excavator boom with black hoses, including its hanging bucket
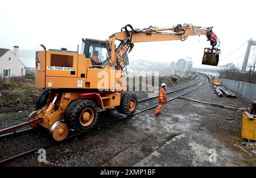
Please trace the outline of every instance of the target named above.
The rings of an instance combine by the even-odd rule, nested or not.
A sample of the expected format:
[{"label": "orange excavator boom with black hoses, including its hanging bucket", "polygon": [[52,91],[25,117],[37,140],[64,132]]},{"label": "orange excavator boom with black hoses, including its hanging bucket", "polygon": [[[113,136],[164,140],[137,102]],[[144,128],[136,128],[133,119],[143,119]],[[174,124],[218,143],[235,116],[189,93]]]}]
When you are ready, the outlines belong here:
[{"label": "orange excavator boom with black hoses, including its hanging bucket", "polygon": [[[130,28],[130,30],[128,30],[128,28]],[[206,35],[212,48],[205,48],[202,64],[217,66],[220,49],[214,48],[217,45],[218,38],[212,31],[212,28],[213,27],[192,26],[192,24],[178,24],[177,26],[168,28],[150,26],[143,29],[134,29],[130,24],[127,24],[121,29],[121,32],[110,35],[109,40],[106,40],[108,45],[108,59],[110,60],[106,61],[104,65],[110,64],[110,67],[115,67],[115,69],[123,69],[125,63],[127,63],[126,60],[123,60],[123,56],[127,59],[127,53],[131,52],[134,43],[167,40],[184,41],[188,36]],[[115,48],[115,40],[121,42],[117,48]]]}]

